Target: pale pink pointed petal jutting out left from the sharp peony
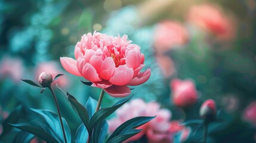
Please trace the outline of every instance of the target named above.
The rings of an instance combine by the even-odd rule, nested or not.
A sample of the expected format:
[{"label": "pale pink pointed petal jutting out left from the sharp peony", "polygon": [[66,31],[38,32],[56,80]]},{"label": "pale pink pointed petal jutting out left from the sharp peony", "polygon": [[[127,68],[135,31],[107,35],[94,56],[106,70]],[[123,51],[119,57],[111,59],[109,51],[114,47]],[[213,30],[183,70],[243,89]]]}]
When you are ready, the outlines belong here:
[{"label": "pale pink pointed petal jutting out left from the sharp peony", "polygon": [[69,57],[60,57],[60,63],[62,67],[69,73],[74,74],[75,76],[81,76],[76,67],[76,60]]}]

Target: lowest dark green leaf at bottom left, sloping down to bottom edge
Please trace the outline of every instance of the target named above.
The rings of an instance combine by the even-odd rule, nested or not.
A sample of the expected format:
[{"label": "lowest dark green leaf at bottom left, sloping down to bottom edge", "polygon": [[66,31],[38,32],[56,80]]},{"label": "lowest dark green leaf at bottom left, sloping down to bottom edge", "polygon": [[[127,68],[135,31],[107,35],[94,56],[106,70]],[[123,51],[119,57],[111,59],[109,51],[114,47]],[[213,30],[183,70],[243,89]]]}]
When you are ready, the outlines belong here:
[{"label": "lowest dark green leaf at bottom left, sloping down to bottom edge", "polygon": [[29,123],[18,123],[18,124],[10,124],[18,129],[24,130],[26,132],[32,133],[33,135],[39,136],[44,139],[46,142],[58,143],[58,141],[51,136],[49,133],[45,132],[45,130],[38,128],[36,126],[30,125]]}]

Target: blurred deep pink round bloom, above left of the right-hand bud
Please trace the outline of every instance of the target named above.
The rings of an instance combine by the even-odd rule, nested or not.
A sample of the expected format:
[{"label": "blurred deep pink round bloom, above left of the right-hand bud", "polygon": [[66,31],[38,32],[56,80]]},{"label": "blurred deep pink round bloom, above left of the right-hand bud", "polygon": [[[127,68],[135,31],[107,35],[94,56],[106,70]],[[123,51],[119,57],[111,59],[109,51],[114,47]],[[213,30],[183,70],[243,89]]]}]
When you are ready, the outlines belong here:
[{"label": "blurred deep pink round bloom, above left of the right-hand bud", "polygon": [[198,100],[195,83],[192,80],[173,79],[170,83],[172,102],[179,107],[187,107]]}]

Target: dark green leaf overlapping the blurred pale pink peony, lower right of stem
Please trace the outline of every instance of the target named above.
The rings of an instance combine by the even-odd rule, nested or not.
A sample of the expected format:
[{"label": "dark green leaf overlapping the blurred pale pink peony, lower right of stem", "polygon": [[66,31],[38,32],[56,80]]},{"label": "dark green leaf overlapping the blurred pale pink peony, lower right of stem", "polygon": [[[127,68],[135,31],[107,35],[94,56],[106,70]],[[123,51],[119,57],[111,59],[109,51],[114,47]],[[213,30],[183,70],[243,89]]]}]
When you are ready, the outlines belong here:
[{"label": "dark green leaf overlapping the blurred pale pink peony, lower right of stem", "polygon": [[109,139],[112,139],[114,136],[121,135],[122,133],[126,132],[127,130],[130,129],[135,129],[144,123],[149,122],[155,117],[135,117],[132,119],[127,120],[127,122],[122,123],[109,137]]}]

